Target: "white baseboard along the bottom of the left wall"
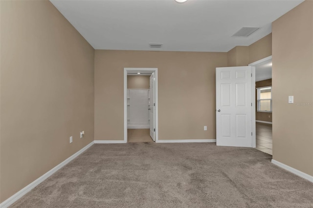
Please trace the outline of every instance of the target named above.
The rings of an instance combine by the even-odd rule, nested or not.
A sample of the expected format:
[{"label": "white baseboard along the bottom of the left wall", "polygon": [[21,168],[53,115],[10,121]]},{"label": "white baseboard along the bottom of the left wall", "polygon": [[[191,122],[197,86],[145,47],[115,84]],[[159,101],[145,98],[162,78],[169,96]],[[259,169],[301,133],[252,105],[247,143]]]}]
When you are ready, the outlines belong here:
[{"label": "white baseboard along the bottom of the left wall", "polygon": [[83,153],[86,149],[88,149],[90,146],[93,145],[93,141],[91,143],[89,143],[89,145],[83,147],[82,149],[80,149],[78,152],[76,152],[75,154],[73,154],[72,156],[70,156],[69,158],[67,158],[65,161],[63,161],[62,163],[60,163],[59,165],[53,167],[51,170],[49,170],[48,172],[46,172],[44,175],[40,176],[38,179],[36,179],[35,181],[33,181],[32,183],[30,183],[29,185],[27,185],[26,187],[22,188],[20,191],[18,191],[16,194],[14,194],[13,196],[11,196],[10,198],[8,198],[7,200],[5,200],[4,202],[2,202],[0,204],[0,208],[7,208],[10,205],[12,205],[14,202],[16,202],[17,200],[19,200],[22,196],[24,196],[26,193],[28,193],[31,189],[33,189],[34,187],[37,187],[39,184],[41,184],[43,181],[45,181],[45,179],[47,179],[48,177],[50,177],[53,173],[55,173],[56,171],[58,171],[59,169],[61,169],[63,166],[67,165],[69,162],[71,162],[73,159],[75,159],[78,155],[80,155],[81,153]]}]

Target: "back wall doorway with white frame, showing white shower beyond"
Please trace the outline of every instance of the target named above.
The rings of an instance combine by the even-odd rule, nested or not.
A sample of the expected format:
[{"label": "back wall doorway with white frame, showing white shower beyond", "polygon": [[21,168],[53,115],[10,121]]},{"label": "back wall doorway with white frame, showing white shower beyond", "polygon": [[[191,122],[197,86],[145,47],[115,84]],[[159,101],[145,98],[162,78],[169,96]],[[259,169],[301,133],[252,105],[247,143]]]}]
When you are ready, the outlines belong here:
[{"label": "back wall doorway with white frame, showing white shower beyond", "polygon": [[124,142],[158,141],[157,68],[124,68]]}]

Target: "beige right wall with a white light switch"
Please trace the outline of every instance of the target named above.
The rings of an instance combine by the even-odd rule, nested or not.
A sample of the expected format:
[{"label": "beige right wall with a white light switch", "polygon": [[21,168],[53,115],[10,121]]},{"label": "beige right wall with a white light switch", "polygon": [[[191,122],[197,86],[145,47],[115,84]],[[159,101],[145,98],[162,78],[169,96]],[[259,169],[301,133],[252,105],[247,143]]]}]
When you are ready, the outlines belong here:
[{"label": "beige right wall with a white light switch", "polygon": [[272,35],[273,159],[313,176],[313,1],[274,21]]}]

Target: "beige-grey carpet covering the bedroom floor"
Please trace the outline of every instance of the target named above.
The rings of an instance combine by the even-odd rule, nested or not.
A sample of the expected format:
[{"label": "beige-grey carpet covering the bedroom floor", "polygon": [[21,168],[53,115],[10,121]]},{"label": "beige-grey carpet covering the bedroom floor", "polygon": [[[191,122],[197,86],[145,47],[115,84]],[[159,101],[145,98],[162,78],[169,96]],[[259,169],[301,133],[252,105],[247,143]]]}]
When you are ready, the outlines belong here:
[{"label": "beige-grey carpet covering the bedroom floor", "polygon": [[253,148],[97,144],[12,208],[304,208],[313,184]]}]

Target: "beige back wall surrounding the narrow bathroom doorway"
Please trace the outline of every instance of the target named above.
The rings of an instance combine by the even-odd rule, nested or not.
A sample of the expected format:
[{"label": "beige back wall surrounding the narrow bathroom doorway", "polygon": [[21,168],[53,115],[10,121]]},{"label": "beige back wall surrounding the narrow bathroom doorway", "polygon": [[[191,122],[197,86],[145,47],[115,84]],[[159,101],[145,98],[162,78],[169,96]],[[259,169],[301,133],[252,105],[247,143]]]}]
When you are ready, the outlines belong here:
[{"label": "beige back wall surrounding the narrow bathroom doorway", "polygon": [[96,50],[95,140],[124,138],[124,67],[158,68],[160,140],[215,139],[215,68],[226,65],[227,53]]}]

